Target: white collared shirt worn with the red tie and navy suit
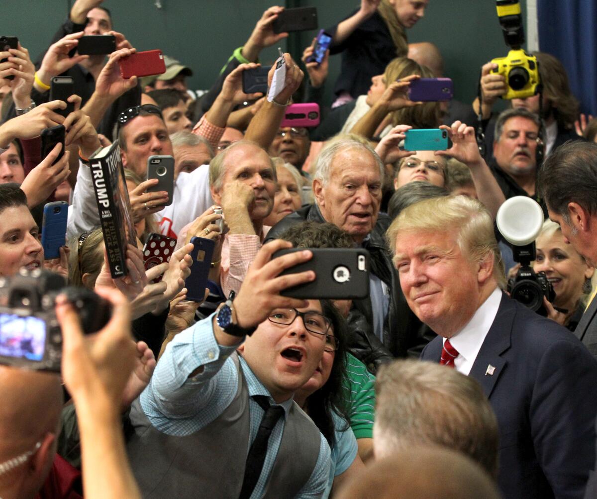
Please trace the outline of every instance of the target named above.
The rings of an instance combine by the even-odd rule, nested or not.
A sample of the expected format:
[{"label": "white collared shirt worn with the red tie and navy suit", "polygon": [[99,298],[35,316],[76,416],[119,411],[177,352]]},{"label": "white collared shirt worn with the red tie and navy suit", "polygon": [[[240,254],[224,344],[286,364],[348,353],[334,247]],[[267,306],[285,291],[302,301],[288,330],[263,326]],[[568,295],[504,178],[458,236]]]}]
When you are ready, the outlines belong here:
[{"label": "white collared shirt worn with the red tie and navy suit", "polygon": [[[470,321],[450,338],[450,343],[457,350],[454,367],[458,372],[469,375],[481,345],[489,332],[500,307],[501,289],[496,288],[487,300],[476,310]],[[444,343],[445,343],[444,338]]]}]

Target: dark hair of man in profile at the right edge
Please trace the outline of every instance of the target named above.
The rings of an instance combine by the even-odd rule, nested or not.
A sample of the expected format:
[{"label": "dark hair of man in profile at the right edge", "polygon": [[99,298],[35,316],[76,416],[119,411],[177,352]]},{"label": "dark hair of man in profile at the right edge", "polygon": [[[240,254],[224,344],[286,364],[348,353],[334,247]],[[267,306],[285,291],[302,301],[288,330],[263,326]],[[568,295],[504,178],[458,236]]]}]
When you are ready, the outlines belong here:
[{"label": "dark hair of man in profile at the right edge", "polygon": [[547,156],[537,184],[547,207],[570,224],[568,203],[597,214],[597,144],[569,140]]}]

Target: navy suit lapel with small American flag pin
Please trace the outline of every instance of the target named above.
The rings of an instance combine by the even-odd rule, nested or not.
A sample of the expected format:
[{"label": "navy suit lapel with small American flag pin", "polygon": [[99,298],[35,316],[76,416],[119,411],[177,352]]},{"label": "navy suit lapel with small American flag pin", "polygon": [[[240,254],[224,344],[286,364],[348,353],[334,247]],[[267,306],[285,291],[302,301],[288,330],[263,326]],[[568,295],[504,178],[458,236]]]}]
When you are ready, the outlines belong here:
[{"label": "navy suit lapel with small American flag pin", "polygon": [[496,385],[506,361],[501,354],[510,348],[510,335],[516,309],[506,295],[502,295],[496,318],[481,345],[481,350],[470,369],[469,376],[481,383],[487,398]]}]

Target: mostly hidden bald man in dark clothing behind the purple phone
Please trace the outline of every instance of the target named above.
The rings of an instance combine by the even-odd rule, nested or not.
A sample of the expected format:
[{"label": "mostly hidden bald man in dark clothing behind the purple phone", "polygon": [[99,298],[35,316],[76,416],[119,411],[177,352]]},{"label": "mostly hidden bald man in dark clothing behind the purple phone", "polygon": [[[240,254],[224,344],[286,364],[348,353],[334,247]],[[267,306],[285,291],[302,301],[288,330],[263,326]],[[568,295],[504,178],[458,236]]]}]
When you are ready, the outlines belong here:
[{"label": "mostly hidden bald man in dark clothing behind the purple phone", "polygon": [[[444,78],[444,58],[439,48],[431,42],[418,42],[408,44],[409,59],[416,61],[421,66],[429,67],[435,78]],[[476,116],[470,104],[465,104],[459,100],[452,99],[442,103],[444,117],[442,121],[448,127],[459,120],[467,125],[475,125]]]}]

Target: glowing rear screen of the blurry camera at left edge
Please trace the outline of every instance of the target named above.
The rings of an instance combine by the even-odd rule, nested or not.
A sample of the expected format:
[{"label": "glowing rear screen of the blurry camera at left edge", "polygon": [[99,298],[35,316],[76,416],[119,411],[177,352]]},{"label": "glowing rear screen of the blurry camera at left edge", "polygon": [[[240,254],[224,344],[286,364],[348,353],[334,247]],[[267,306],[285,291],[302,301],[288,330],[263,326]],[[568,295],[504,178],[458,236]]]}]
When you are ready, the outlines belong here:
[{"label": "glowing rear screen of the blurry camera at left edge", "polygon": [[0,313],[0,355],[29,361],[44,358],[44,319]]}]

